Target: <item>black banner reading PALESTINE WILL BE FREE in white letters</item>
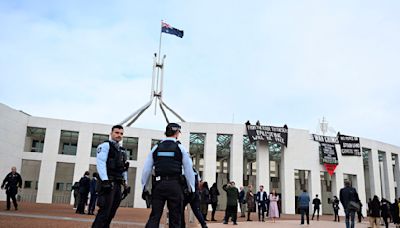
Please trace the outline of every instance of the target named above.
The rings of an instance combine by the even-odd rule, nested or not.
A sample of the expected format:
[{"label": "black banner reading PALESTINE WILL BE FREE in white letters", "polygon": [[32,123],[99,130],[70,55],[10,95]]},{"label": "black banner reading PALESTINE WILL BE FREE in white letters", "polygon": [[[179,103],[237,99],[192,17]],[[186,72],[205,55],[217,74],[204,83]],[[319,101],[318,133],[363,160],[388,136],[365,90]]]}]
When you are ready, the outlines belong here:
[{"label": "black banner reading PALESTINE WILL BE FREE in white letters", "polygon": [[267,141],[287,146],[288,128],[286,125],[285,127],[273,127],[248,124],[246,128],[251,142]]}]

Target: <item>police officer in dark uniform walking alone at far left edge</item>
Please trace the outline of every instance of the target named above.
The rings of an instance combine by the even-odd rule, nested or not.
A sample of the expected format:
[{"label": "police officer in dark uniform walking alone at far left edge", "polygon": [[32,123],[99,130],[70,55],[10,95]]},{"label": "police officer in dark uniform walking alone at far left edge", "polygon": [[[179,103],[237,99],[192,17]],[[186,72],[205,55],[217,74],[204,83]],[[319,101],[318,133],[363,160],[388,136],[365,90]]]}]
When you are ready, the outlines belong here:
[{"label": "police officer in dark uniform walking alone at far left edge", "polygon": [[18,188],[22,187],[22,178],[21,175],[17,173],[16,167],[12,167],[11,172],[4,178],[3,184],[1,184],[1,189],[4,189],[4,187],[6,188],[7,194],[7,210],[10,210],[11,207],[10,198],[13,200],[15,210],[18,210],[15,195],[18,193]]}]

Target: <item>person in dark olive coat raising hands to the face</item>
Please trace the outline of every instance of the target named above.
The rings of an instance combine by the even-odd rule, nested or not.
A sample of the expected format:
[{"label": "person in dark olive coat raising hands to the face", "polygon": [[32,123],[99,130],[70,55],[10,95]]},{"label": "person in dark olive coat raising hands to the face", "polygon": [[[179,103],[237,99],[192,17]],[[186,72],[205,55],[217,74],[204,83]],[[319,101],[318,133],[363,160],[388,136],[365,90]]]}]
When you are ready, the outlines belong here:
[{"label": "person in dark olive coat raising hands to the face", "polygon": [[228,224],[229,217],[232,218],[233,225],[237,225],[237,204],[239,201],[239,190],[235,187],[235,182],[224,184],[222,189],[226,191],[227,202],[225,210],[224,224]]}]

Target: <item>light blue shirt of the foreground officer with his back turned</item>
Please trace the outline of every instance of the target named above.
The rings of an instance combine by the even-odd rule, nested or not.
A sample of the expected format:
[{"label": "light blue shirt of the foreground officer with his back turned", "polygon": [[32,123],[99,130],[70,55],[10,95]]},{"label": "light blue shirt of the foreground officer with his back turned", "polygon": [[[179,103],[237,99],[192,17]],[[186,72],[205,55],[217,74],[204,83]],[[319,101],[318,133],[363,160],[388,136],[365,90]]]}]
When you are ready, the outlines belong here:
[{"label": "light blue shirt of the foreground officer with his back turned", "polygon": [[[171,140],[176,142],[175,138],[165,138],[163,141],[166,140]],[[187,185],[190,186],[190,189],[192,192],[195,191],[194,187],[194,172],[193,172],[193,163],[192,159],[189,156],[189,153],[186,151],[186,149],[181,145],[178,144],[179,149],[182,152],[182,165],[183,165],[183,171],[184,175],[186,177],[186,182]],[[143,189],[146,186],[147,180],[150,178],[151,172],[153,170],[153,165],[154,165],[154,160],[153,160],[153,152],[157,149],[158,145],[155,145],[151,152],[147,155],[146,161],[144,162],[143,165],[143,173],[142,173],[142,186]]]}]

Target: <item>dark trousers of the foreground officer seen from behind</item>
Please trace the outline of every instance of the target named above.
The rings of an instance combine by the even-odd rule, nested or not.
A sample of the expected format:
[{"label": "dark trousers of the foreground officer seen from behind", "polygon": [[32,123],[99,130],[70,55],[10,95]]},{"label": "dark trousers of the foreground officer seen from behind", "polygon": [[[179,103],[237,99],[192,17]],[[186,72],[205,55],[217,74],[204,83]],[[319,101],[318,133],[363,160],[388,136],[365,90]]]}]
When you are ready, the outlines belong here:
[{"label": "dark trousers of the foreground officer seen from behind", "polygon": [[161,180],[153,183],[152,208],[146,228],[158,228],[165,201],[169,211],[169,227],[181,227],[183,192],[179,180]]}]

